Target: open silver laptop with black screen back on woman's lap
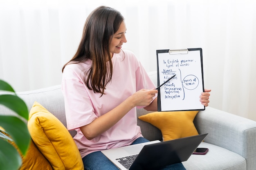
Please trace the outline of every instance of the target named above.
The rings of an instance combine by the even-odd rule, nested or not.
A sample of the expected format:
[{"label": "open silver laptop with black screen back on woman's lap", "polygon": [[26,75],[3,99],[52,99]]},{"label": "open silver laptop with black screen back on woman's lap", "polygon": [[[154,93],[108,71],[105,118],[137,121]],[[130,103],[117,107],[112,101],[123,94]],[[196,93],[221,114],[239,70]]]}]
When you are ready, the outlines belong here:
[{"label": "open silver laptop with black screen back on woman's lap", "polygon": [[150,141],[101,152],[120,170],[157,170],[187,161],[207,135],[208,133],[163,142]]}]

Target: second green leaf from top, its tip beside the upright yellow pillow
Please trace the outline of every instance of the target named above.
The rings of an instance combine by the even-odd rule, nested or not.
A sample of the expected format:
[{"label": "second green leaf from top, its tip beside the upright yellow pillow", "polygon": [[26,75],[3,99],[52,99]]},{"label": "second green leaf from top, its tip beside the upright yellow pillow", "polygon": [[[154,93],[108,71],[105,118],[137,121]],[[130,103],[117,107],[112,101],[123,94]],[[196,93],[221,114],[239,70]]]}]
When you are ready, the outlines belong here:
[{"label": "second green leaf from top, its tip beside the upright yellow pillow", "polygon": [[26,120],[29,118],[28,108],[26,103],[16,95],[0,95],[0,104],[15,111]]}]

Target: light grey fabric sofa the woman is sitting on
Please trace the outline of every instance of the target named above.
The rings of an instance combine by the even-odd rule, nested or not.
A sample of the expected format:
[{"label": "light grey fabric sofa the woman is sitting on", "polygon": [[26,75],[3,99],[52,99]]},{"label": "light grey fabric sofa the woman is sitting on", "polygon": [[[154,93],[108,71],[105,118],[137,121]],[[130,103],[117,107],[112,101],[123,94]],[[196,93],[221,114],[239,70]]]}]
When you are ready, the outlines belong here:
[{"label": "light grey fabric sofa the woman is sitting on", "polygon": [[[149,72],[155,85],[157,73]],[[214,93],[214,92],[212,92]],[[33,91],[17,92],[30,109],[40,103],[66,126],[64,99],[61,85]],[[137,108],[137,116],[150,112]],[[0,106],[0,114],[11,115],[11,110]],[[150,141],[162,140],[162,131],[152,124],[137,119],[142,135]],[[210,106],[199,111],[193,119],[199,134],[208,133],[199,147],[209,148],[206,155],[191,155],[182,162],[187,170],[255,170],[256,169],[256,122]],[[69,131],[73,137],[76,132]]]}]

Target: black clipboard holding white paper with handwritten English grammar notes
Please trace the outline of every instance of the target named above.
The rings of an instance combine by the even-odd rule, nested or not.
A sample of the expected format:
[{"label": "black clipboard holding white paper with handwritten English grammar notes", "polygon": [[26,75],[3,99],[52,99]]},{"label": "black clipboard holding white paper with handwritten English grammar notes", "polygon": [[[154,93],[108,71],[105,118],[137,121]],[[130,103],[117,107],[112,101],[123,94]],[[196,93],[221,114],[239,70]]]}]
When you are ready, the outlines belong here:
[{"label": "black clipboard holding white paper with handwritten English grammar notes", "polygon": [[[204,91],[202,49],[157,50],[157,110],[205,110],[199,101]],[[170,77],[173,79],[168,80]]]}]

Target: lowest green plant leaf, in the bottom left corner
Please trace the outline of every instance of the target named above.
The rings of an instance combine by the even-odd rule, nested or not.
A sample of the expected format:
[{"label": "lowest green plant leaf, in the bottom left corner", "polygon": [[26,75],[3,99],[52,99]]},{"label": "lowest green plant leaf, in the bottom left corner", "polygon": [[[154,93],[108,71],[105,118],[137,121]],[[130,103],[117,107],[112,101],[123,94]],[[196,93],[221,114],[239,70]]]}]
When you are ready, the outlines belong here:
[{"label": "lowest green plant leaf, in the bottom left corner", "polygon": [[21,164],[18,151],[7,141],[0,139],[0,170],[18,170]]}]

